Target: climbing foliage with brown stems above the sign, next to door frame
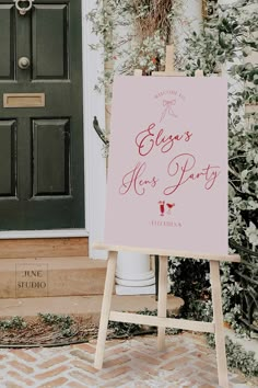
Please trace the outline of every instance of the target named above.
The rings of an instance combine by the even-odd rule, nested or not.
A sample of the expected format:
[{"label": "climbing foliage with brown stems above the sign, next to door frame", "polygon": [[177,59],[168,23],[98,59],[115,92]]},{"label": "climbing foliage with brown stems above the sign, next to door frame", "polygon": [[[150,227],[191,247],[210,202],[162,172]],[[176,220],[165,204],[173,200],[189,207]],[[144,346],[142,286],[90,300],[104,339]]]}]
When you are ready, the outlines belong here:
[{"label": "climbing foliage with brown stems above the sign, next to door frame", "polygon": [[114,75],[144,75],[165,65],[165,45],[169,41],[174,20],[181,0],[106,0],[97,1],[87,14],[92,32],[98,42],[92,49],[103,50],[105,70],[98,77],[96,90],[105,89],[110,98]]}]

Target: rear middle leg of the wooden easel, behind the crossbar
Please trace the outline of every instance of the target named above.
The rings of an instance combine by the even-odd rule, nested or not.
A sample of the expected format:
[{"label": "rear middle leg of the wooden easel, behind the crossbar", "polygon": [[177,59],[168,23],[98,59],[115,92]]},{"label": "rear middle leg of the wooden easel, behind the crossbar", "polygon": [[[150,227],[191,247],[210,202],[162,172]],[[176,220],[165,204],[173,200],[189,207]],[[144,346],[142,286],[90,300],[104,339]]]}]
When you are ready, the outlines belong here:
[{"label": "rear middle leg of the wooden easel, behind the crossbar", "polygon": [[[157,317],[166,318],[166,300],[167,300],[167,256],[160,256],[160,276],[159,276],[159,300]],[[165,330],[166,328],[157,327],[157,350],[165,349]]]}]

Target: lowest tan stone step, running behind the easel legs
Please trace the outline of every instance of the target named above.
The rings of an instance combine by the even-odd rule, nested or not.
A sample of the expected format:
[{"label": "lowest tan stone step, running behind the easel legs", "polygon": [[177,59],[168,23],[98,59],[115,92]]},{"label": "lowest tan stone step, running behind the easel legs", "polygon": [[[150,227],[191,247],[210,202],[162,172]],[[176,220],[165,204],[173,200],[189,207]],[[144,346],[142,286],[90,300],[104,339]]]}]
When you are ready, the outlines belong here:
[{"label": "lowest tan stone step, running behind the easel legs", "polygon": [[[40,313],[56,315],[83,315],[89,321],[98,323],[102,295],[94,296],[67,296],[48,298],[19,298],[0,299],[0,317],[36,317]],[[167,309],[177,313],[184,305],[181,298],[167,296]],[[112,309],[117,311],[140,311],[143,309],[155,310],[156,300],[153,295],[114,295]]]}]

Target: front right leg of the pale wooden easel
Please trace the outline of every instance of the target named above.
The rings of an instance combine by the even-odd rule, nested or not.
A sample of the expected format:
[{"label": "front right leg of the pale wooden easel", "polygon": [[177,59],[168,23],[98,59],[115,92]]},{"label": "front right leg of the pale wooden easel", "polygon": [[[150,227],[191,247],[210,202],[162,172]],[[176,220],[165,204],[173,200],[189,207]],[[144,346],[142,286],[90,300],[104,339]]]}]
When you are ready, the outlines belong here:
[{"label": "front right leg of the pale wooden easel", "polygon": [[218,261],[210,261],[210,273],[211,273],[212,305],[213,305],[213,322],[215,323],[215,350],[216,350],[219,385],[223,388],[227,388],[228,381],[227,381],[227,366],[226,366],[226,353],[225,353],[225,336],[224,336],[224,329],[223,329],[220,263]]}]

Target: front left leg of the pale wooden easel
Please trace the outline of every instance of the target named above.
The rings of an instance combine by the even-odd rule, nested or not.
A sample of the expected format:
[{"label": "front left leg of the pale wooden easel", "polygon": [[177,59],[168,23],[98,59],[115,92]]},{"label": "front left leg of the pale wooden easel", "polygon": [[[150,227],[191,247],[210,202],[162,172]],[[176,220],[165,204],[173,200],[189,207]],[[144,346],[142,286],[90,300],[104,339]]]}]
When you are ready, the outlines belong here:
[{"label": "front left leg of the pale wooden easel", "polygon": [[98,329],[98,336],[97,336],[97,345],[96,345],[96,353],[95,353],[94,367],[96,369],[101,369],[103,365],[105,342],[107,335],[107,324],[108,324],[108,318],[109,318],[110,307],[112,307],[112,294],[113,294],[113,287],[115,281],[116,265],[117,265],[117,252],[109,252],[105,289],[104,289],[103,301],[102,301],[102,312],[101,312],[101,321],[99,321],[99,329]]}]

